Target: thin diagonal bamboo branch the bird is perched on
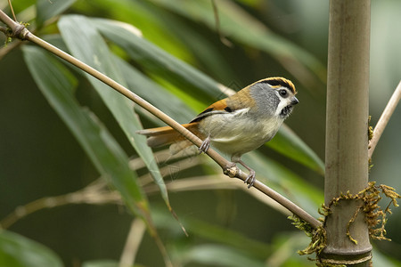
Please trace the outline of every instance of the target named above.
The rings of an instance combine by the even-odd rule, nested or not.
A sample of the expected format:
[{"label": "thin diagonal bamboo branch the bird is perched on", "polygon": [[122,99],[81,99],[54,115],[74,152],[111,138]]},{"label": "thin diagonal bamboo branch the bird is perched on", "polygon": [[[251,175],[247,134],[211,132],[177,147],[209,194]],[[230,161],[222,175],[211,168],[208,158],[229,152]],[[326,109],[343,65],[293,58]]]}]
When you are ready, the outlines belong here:
[{"label": "thin diagonal bamboo branch the bird is perched on", "polygon": [[[119,93],[123,94],[126,96],[128,99],[131,101],[134,101],[136,104],[140,105],[143,109],[146,109],[149,111],[151,114],[154,116],[158,117],[161,121],[166,123],[167,125],[170,125],[173,127],[178,133],[183,134],[186,139],[188,139],[190,142],[192,142],[194,145],[197,147],[201,146],[201,139],[196,136],[195,134],[192,134],[190,131],[185,129],[182,125],[177,123],[174,119],[171,117],[168,117],[165,113],[163,113],[160,109],[157,109],[156,107],[152,106],[148,101],[143,100],[141,97],[136,95],[135,93],[132,93],[129,91],[126,87],[123,85],[119,85],[119,83],[115,82],[114,80],[110,79],[110,77],[105,76],[101,72],[99,72],[96,69],[93,69],[92,67],[88,66],[86,63],[82,61],[78,61],[76,58],[72,57],[68,53],[64,53],[57,47],[53,46],[52,44],[46,43],[44,40],[38,38],[37,36],[33,35],[27,28],[25,28],[23,25],[20,25],[13,20],[11,20],[4,12],[0,11],[0,20],[2,20],[5,24],[7,24],[8,27],[12,29],[12,32],[14,33],[14,37],[18,37],[22,40],[29,40],[34,44],[37,44],[45,50],[49,51],[50,53],[53,53],[60,57],[61,59],[70,62],[74,66],[78,67],[79,69],[82,69],[86,71],[86,73],[92,75],[93,77],[96,77],[100,81],[102,81],[104,84],[109,85],[111,88],[114,90],[118,91]],[[206,154],[212,158],[223,170],[224,173],[227,174],[230,177],[235,177],[239,178],[242,181],[245,181],[248,177],[248,174],[245,174],[244,172],[241,171],[240,168],[237,166],[231,167],[231,164],[228,160],[223,158],[220,154],[217,153],[216,150],[209,149]],[[230,168],[228,168],[230,166]],[[312,227],[318,228],[322,225],[321,222],[315,219],[310,214],[307,214],[306,211],[304,211],[302,208],[291,202],[289,199],[284,198],[282,195],[277,193],[276,191],[270,189],[267,187],[265,184],[262,182],[255,181],[253,185],[257,190],[260,190],[261,192],[265,193],[266,196],[273,198],[275,201],[280,203],[282,206],[285,206],[287,209],[291,211],[293,214],[297,214],[301,219],[306,221],[307,223],[310,223]]]}]

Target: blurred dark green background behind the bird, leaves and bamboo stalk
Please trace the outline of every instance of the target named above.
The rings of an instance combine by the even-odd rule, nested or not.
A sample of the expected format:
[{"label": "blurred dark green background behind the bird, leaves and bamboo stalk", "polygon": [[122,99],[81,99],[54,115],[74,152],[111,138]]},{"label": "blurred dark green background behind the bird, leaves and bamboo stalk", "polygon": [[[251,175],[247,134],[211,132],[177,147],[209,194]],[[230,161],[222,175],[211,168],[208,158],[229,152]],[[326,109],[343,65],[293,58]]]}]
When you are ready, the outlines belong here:
[{"label": "blurred dark green background behind the bird, leaves and bamboo stalk", "polygon": [[[239,90],[264,77],[290,78],[298,88],[300,104],[286,124],[315,151],[319,158],[324,159],[324,79],[327,64],[329,1],[217,0],[217,8],[222,13],[222,18],[228,14],[228,17],[240,26],[250,22],[249,25],[253,27],[248,32],[246,28],[240,26],[225,28],[222,24],[222,34],[229,40],[230,45],[221,41],[212,9],[205,11],[197,8],[197,4],[194,4],[196,1],[198,0],[80,0],[72,4],[66,13],[126,21],[139,28],[143,38],[234,90]],[[202,0],[199,3],[211,6],[210,1]],[[2,10],[6,9],[5,0],[0,4]],[[35,16],[34,8],[30,10],[27,8],[36,4],[36,1],[21,0],[13,1],[12,4],[17,13],[24,11],[20,14],[21,17]],[[382,109],[401,78],[400,12],[401,2],[398,0],[372,1],[370,86],[372,125],[379,119]],[[23,19],[19,17],[19,20]],[[266,43],[266,40],[258,40],[258,29],[267,33]],[[57,33],[57,28],[55,24],[50,24],[41,29],[38,35],[53,33]],[[271,44],[268,41],[270,34]],[[281,50],[285,52],[288,48],[283,44],[294,47],[291,48],[291,56],[280,55]],[[269,45],[273,48],[263,49],[270,47]],[[115,46],[112,46],[112,49],[127,59],[127,54],[122,50]],[[292,58],[304,59],[300,61],[308,62],[309,65],[299,66],[302,64],[293,61]],[[137,69],[142,69],[139,63],[129,59],[128,61]],[[151,76],[149,72],[147,74]],[[160,77],[153,78],[161,85],[165,85]],[[12,213],[17,206],[23,206],[37,198],[58,196],[82,189],[98,178],[99,174],[86,157],[84,150],[37,89],[19,48],[13,49],[0,61],[0,81],[1,218]],[[125,135],[119,130],[110,111],[105,108],[91,85],[83,77],[80,77],[79,82],[78,100],[92,109],[102,123],[107,125],[127,154],[135,157],[135,150],[129,146]],[[166,85],[166,87],[182,99],[188,99],[174,86]],[[222,97],[217,94],[214,100]],[[196,98],[194,97],[190,104],[193,110],[198,112],[213,101],[213,97],[206,95],[199,97],[199,101],[196,101]],[[397,191],[401,191],[400,122],[401,109],[398,107],[374,152],[372,158],[374,166],[370,174],[370,181],[385,183]],[[143,117],[143,124],[154,125],[152,120],[146,117]],[[314,190],[320,190],[316,191],[315,198],[322,196],[321,174],[268,147],[263,147],[259,151],[299,175],[307,184],[314,186]],[[191,176],[193,172],[193,169],[188,170],[168,179],[169,181],[181,179]],[[201,172],[208,174],[210,171],[201,170]],[[226,182],[234,181],[227,178]],[[288,190],[291,192],[291,188]],[[313,265],[307,262],[305,256],[299,259],[300,257],[296,255],[297,250],[307,246],[307,239],[299,238],[296,240],[301,240],[300,242],[296,241],[287,248],[283,247],[282,244],[285,244],[286,240],[298,237],[299,234],[286,216],[271,206],[266,206],[257,198],[251,197],[244,190],[171,192],[169,197],[171,205],[184,224],[185,220],[193,219],[237,232],[248,239],[273,247],[269,256],[282,249],[287,253],[282,254],[283,261],[282,263],[279,261],[277,266]],[[149,198],[155,213],[168,217],[167,208],[160,196],[153,194]],[[382,206],[387,206],[387,201],[385,200]],[[315,211],[317,208],[316,205]],[[211,247],[211,244],[216,242],[196,232],[191,234],[191,226],[187,229],[190,237],[185,238],[176,223],[173,223],[173,226],[163,225],[163,220],[156,222],[161,239],[170,251],[180,251],[180,249],[184,251],[195,245],[205,244]],[[69,205],[30,214],[14,223],[9,230],[51,248],[61,257],[65,266],[80,266],[81,263],[91,260],[118,261],[131,221],[132,215],[121,206]],[[396,208],[389,216],[387,224],[388,238],[392,239],[392,242],[373,241],[373,245],[378,254],[382,253],[401,261],[399,225],[401,225],[401,210]],[[205,251],[207,256],[207,250]],[[163,265],[158,248],[147,234],[138,252],[137,263],[145,266]],[[396,262],[393,264],[397,265]],[[192,261],[187,263],[187,266],[214,266],[214,264]],[[269,264],[266,263],[266,266]]]}]

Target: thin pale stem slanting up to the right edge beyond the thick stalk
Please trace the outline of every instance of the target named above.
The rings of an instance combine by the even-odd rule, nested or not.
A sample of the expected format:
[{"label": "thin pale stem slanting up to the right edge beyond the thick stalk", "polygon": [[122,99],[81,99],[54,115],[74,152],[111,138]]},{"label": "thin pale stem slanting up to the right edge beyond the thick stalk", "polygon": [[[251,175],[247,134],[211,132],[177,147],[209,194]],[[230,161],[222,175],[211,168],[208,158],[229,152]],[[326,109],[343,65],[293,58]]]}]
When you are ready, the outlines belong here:
[{"label": "thin pale stem slanting up to the right edge beyond the thick stalk", "polygon": [[383,110],[383,113],[381,114],[379,121],[377,122],[376,126],[373,129],[373,137],[371,142],[369,142],[369,151],[368,151],[369,158],[372,158],[373,151],[374,149],[376,149],[376,145],[381,139],[381,134],[383,134],[384,128],[386,128],[386,125],[389,123],[389,119],[391,115],[393,115],[394,110],[396,110],[397,104],[400,99],[401,99],[401,81],[397,85],[397,88],[394,91],[393,95],[391,95],[391,98],[387,103],[386,108]]}]

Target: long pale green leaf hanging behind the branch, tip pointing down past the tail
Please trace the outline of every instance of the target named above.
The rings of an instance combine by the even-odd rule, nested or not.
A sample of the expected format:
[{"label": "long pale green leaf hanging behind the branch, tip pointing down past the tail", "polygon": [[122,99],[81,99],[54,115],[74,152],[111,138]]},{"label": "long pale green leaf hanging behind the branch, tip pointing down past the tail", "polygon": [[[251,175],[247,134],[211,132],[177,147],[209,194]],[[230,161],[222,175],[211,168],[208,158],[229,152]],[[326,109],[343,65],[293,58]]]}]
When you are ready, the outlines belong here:
[{"label": "long pale green leaf hanging behind the branch, tip pointing down past the tail", "polygon": [[[78,15],[63,16],[59,21],[59,28],[64,42],[69,47],[70,53],[94,69],[119,82],[119,84],[126,85],[121,70],[113,60],[107,44],[103,41],[102,36],[98,34],[91,20]],[[161,177],[159,167],[153,158],[152,151],[146,145],[146,138],[135,134],[137,130],[142,129],[142,125],[134,112],[132,101],[112,90],[108,85],[104,85],[96,78],[88,74],[86,74],[86,77],[94,85],[94,88],[123,129],[127,139],[143,159],[143,162],[160,188],[162,198],[164,198],[168,208],[171,209],[166,185]]]}]

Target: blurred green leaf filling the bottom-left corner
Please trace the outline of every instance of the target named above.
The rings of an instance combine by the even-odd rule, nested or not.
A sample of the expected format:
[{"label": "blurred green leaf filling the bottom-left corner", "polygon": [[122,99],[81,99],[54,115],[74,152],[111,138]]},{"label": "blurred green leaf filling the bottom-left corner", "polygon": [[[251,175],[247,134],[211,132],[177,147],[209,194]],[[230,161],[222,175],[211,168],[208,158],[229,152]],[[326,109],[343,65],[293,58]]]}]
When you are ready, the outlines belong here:
[{"label": "blurred green leaf filling the bottom-left corner", "polygon": [[0,266],[61,267],[61,259],[48,247],[12,231],[0,231]]}]

